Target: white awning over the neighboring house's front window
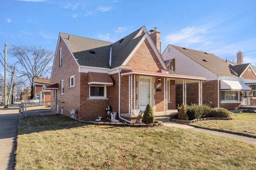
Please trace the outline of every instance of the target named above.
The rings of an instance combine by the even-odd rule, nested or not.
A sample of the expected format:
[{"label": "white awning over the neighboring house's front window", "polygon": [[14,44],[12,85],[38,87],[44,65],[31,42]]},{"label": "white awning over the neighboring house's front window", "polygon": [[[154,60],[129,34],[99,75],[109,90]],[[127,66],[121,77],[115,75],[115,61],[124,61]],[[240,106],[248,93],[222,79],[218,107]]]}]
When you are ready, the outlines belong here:
[{"label": "white awning over the neighboring house's front window", "polygon": [[252,89],[241,81],[221,80],[221,90],[252,91]]}]

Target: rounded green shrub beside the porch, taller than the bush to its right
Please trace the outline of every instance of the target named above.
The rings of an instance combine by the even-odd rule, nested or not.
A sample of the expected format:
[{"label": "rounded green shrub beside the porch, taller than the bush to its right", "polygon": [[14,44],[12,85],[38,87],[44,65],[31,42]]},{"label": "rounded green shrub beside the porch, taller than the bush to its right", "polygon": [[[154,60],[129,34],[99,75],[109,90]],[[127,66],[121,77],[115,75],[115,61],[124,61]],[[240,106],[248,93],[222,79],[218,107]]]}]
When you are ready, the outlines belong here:
[{"label": "rounded green shrub beside the porch, taller than the bush to its right", "polygon": [[198,105],[187,106],[187,114],[188,114],[189,120],[209,117],[211,109],[212,109],[211,107],[205,106],[205,105],[203,105],[203,106],[198,106]]}]

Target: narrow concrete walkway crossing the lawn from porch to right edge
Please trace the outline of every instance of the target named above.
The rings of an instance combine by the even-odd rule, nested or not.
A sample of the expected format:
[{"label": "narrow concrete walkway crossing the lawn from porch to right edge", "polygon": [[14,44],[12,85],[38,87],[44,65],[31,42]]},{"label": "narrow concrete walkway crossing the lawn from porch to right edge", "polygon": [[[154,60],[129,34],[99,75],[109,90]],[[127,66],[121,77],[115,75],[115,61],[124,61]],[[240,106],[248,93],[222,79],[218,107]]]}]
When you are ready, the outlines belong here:
[{"label": "narrow concrete walkway crossing the lawn from porch to right edge", "polygon": [[174,123],[174,122],[164,122],[164,126],[188,129],[188,130],[193,130],[193,131],[203,132],[203,133],[213,134],[213,135],[219,135],[221,137],[226,137],[226,138],[238,140],[238,141],[241,141],[241,142],[249,143],[249,144],[252,144],[252,145],[256,145],[256,139],[249,138],[249,137],[243,137],[241,135],[230,134],[230,133],[223,133],[223,132],[217,132],[217,131],[211,131],[211,130],[206,130],[206,129],[201,129],[201,128],[194,128],[193,126],[189,126],[189,125],[185,125],[185,124],[179,124],[179,123]]}]

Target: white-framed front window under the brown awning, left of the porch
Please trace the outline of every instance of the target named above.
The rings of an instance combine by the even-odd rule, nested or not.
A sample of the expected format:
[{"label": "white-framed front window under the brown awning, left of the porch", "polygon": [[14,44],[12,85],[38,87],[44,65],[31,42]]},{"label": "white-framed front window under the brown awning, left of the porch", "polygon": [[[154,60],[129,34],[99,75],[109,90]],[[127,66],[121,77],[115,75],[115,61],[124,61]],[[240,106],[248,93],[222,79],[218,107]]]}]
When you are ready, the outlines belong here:
[{"label": "white-framed front window under the brown awning, left of the porch", "polygon": [[90,98],[106,98],[106,86],[90,85]]}]

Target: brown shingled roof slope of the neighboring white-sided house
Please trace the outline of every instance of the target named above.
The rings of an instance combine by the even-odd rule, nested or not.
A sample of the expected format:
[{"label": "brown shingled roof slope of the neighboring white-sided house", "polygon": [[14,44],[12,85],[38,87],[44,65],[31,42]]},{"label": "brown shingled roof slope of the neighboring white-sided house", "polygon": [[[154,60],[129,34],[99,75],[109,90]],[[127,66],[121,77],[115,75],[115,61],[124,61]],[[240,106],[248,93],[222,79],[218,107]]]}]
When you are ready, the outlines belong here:
[{"label": "brown shingled roof slope of the neighboring white-sided house", "polygon": [[215,56],[212,53],[200,52],[198,50],[183,48],[174,45],[170,46],[177,49],[179,52],[186,55],[196,63],[202,65],[203,67],[205,67],[205,69],[213,72],[214,74],[226,75],[231,77],[237,76],[236,73],[229,68],[229,63],[222,60],[218,56]]}]

